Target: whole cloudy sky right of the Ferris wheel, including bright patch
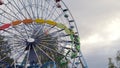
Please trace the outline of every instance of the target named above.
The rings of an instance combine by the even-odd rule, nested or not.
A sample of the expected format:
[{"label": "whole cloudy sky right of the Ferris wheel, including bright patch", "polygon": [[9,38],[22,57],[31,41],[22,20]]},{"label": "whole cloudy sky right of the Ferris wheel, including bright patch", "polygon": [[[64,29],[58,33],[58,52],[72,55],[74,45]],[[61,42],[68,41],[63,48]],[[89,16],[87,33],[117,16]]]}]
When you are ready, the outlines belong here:
[{"label": "whole cloudy sky right of the Ferris wheel, including bright patch", "polygon": [[89,68],[107,68],[120,50],[120,0],[63,0],[75,18]]}]

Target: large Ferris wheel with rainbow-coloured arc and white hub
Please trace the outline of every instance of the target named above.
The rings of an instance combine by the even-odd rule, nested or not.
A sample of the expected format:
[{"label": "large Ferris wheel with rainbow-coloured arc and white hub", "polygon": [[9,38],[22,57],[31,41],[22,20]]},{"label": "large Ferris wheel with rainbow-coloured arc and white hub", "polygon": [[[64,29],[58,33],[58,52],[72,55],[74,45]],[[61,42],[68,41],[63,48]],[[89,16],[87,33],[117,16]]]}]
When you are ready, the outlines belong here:
[{"label": "large Ferris wheel with rainbow-coloured arc and white hub", "polygon": [[0,0],[0,68],[88,68],[62,0]]}]

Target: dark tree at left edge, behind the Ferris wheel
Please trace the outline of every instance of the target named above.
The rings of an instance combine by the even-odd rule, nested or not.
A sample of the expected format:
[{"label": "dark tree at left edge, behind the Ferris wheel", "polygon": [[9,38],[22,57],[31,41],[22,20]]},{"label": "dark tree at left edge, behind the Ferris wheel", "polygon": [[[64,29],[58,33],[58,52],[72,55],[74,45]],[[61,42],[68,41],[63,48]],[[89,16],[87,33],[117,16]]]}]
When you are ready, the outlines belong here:
[{"label": "dark tree at left edge, behind the Ferris wheel", "polygon": [[8,42],[4,40],[4,36],[0,35],[0,60],[7,56],[5,59],[0,61],[0,66],[2,67],[4,67],[5,64],[11,64],[13,62],[13,59],[8,56],[11,50],[7,44]]}]

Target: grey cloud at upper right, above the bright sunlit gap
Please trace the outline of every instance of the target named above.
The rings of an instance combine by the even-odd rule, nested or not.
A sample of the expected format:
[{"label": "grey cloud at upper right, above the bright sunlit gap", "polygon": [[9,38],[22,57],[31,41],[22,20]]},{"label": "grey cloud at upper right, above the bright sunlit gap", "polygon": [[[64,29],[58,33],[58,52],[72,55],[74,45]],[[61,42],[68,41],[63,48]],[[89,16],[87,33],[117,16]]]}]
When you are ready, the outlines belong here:
[{"label": "grey cloud at upper right, above the bright sunlit gap", "polygon": [[87,37],[100,31],[101,27],[107,25],[105,21],[115,17],[120,12],[119,0],[71,0],[67,1],[77,24],[81,37]]}]

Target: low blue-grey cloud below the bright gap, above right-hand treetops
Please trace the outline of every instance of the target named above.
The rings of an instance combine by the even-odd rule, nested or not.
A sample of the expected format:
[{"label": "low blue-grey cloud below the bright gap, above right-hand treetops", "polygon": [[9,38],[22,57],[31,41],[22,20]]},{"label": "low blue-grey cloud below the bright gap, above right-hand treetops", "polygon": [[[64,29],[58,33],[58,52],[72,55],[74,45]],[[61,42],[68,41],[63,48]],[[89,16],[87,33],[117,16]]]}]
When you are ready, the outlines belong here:
[{"label": "low blue-grey cloud below the bright gap, above right-hand treetops", "polygon": [[[89,68],[108,68],[108,58],[111,57],[115,59],[117,51],[120,50],[119,40],[110,42],[109,44],[96,44],[96,47],[93,49],[88,49],[89,52],[83,52]],[[92,45],[87,46],[90,47]]]}]

